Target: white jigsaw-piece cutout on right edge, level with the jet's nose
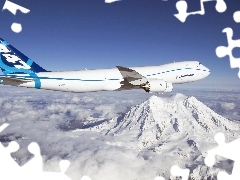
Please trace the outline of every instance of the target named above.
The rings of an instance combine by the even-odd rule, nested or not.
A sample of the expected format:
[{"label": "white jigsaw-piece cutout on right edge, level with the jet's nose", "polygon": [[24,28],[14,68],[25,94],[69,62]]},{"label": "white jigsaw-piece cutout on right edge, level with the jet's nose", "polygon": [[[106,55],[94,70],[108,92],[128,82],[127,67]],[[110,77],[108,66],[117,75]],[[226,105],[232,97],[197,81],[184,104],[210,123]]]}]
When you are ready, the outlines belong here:
[{"label": "white jigsaw-piece cutout on right edge, level with the jet's nose", "polygon": [[[240,39],[233,40],[233,30],[232,28],[223,29],[224,33],[227,35],[228,47],[218,46],[216,48],[216,55],[219,58],[223,58],[225,56],[229,56],[230,59],[230,67],[231,68],[240,68],[240,58],[233,57],[232,50],[236,47],[240,48]],[[238,72],[238,77],[240,78],[240,71]]]}]

